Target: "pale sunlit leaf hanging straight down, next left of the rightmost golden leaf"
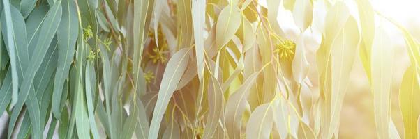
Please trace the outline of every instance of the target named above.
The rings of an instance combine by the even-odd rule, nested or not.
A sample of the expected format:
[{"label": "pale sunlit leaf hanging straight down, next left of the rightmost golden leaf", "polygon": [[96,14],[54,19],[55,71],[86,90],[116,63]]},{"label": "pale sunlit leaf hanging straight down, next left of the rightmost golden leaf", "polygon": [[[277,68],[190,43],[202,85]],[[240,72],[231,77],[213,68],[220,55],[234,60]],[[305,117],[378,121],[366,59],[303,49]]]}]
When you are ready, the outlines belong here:
[{"label": "pale sunlit leaf hanging straight down, next left of the rightmost golden leaf", "polygon": [[375,123],[379,138],[389,136],[389,108],[391,99],[393,46],[385,28],[376,28],[370,57]]}]

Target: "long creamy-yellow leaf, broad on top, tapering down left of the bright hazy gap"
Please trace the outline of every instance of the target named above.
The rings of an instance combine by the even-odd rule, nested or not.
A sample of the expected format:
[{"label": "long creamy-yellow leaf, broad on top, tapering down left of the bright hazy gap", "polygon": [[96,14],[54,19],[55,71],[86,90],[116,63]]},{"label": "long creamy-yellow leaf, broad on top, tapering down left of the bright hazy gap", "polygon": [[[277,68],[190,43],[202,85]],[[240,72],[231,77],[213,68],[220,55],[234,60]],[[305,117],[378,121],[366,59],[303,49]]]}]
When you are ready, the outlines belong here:
[{"label": "long creamy-yellow leaf, broad on top, tapering down left of the bright hazy gap", "polygon": [[353,17],[349,17],[331,44],[331,126],[329,126],[331,135],[338,129],[341,106],[359,42],[357,22]]}]

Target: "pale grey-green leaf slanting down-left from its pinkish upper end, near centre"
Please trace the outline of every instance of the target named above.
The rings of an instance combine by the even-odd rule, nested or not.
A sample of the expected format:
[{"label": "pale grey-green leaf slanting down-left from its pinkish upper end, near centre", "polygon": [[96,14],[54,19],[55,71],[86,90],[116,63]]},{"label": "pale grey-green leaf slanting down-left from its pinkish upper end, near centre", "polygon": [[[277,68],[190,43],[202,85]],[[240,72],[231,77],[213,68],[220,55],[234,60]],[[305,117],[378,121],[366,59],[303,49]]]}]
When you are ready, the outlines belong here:
[{"label": "pale grey-green leaf slanting down-left from its pinkish upper end, near centre", "polygon": [[160,90],[158,93],[158,101],[156,103],[153,118],[150,124],[149,139],[158,138],[160,122],[162,121],[163,114],[169,104],[170,98],[174,93],[183,72],[185,72],[188,65],[188,52],[190,49],[181,49],[172,56],[167,62],[165,72],[160,83]]}]

